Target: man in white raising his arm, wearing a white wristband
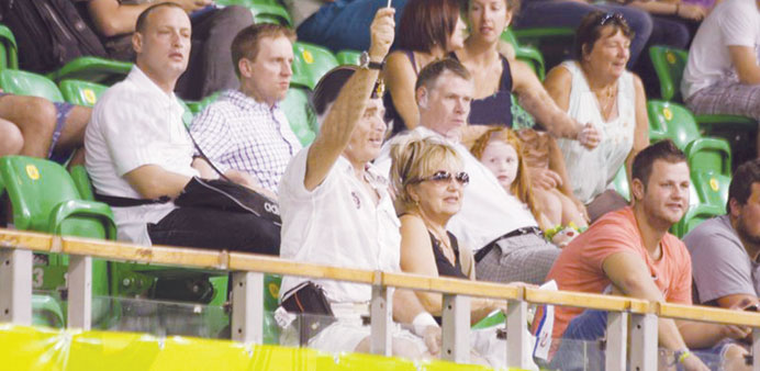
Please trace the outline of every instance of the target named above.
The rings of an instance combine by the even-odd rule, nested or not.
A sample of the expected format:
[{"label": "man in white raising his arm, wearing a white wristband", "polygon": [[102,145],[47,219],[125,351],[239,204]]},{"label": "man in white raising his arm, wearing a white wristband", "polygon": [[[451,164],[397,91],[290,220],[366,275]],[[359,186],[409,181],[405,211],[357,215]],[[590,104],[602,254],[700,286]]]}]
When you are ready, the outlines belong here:
[{"label": "man in white raising his arm, wearing a white wristband", "polygon": [[[393,9],[372,22],[369,57],[380,63],[393,42]],[[375,66],[375,65],[373,65]],[[314,91],[321,130],[314,143],[293,157],[280,182],[282,248],[286,259],[368,270],[399,271],[399,218],[385,178],[370,161],[380,153],[385,132],[380,97],[372,97],[380,70],[345,66],[325,75]],[[284,277],[286,302],[306,279]],[[323,351],[370,350],[368,285],[313,280],[322,286],[336,322],[309,339]],[[440,328],[413,292],[395,290],[393,317],[412,323],[414,333],[393,326],[392,353],[406,358],[438,352]],[[292,329],[292,328],[291,328]],[[286,331],[281,340],[288,345]],[[423,341],[424,338],[424,341]]]}]

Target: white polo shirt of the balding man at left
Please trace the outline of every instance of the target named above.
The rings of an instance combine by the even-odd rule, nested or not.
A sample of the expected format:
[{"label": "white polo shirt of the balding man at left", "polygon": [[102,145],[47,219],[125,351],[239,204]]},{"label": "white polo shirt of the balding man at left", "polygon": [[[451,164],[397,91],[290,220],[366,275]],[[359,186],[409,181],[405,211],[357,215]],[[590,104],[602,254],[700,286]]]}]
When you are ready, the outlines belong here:
[{"label": "white polo shirt of the balding man at left", "polygon": [[[182,123],[183,109],[137,66],[98,100],[85,133],[85,164],[96,191],[143,199],[123,176],[144,165],[158,165],[187,177],[198,176],[193,145]],[[147,223],[157,223],[174,203],[112,207],[119,239],[150,245]]]}]

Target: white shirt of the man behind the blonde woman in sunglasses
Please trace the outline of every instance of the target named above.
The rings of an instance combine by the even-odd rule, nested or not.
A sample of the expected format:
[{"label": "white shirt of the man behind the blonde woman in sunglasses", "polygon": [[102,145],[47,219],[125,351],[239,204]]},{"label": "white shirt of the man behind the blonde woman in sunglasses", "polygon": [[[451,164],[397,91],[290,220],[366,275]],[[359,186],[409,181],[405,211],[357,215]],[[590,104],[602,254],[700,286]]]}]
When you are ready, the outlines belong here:
[{"label": "white shirt of the man behind the blonde woman in sunglasses", "polygon": [[[417,126],[409,134],[402,135],[438,136],[448,140],[423,126]],[[385,175],[390,173],[391,168],[390,146],[399,139],[385,143],[375,161],[378,169]],[[538,226],[528,206],[506,192],[491,170],[472,156],[461,143],[450,140],[448,143],[462,158],[465,171],[470,176],[470,183],[465,187],[461,210],[449,220],[447,225],[448,231],[457,236],[460,243],[467,244],[472,250],[478,250],[514,229]]]}]

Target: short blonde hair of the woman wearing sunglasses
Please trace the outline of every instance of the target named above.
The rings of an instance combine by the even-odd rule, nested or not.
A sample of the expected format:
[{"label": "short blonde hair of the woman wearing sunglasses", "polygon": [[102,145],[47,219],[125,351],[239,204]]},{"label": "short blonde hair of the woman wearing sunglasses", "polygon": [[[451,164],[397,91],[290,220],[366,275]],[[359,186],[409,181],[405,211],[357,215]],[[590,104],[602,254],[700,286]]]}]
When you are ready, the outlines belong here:
[{"label": "short blonde hair of the woman wearing sunglasses", "polygon": [[391,145],[391,186],[400,206],[406,210],[415,207],[407,186],[427,178],[440,170],[442,166],[462,166],[457,150],[440,138],[410,133]]}]

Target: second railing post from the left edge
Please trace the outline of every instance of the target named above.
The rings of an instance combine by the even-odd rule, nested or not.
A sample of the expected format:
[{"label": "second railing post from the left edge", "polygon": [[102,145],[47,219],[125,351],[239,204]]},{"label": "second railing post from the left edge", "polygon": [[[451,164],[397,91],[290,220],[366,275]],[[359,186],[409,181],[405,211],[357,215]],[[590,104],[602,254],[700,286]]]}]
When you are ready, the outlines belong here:
[{"label": "second railing post from the left edge", "polygon": [[67,327],[88,330],[92,324],[92,257],[69,257],[67,283]]}]

